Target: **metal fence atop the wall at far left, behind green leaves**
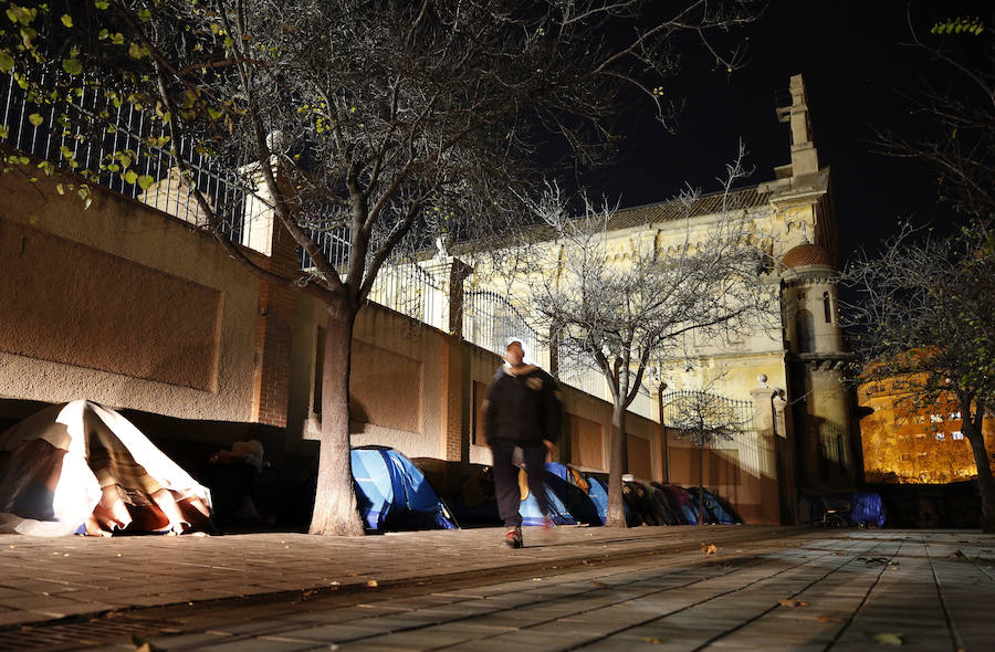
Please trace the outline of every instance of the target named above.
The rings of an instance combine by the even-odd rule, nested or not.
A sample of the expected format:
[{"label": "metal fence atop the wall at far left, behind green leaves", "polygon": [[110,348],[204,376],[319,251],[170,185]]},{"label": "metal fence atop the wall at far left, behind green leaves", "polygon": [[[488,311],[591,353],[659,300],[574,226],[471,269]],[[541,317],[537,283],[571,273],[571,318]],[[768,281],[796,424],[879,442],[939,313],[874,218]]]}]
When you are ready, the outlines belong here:
[{"label": "metal fence atop the wall at far left, behind green leaves", "polygon": [[[242,241],[245,198],[251,192],[247,180],[235,166],[213,162],[192,139],[171,143],[163,122],[146,112],[85,86],[81,95],[57,106],[34,103],[6,74],[0,74],[0,105],[9,147],[54,166],[75,165],[73,169],[92,172],[101,186],[203,224],[207,215],[191,194],[193,186],[206,196],[221,230],[232,241]],[[60,118],[63,112],[66,119]],[[188,162],[192,179],[180,178],[169,151],[174,147]]]}]

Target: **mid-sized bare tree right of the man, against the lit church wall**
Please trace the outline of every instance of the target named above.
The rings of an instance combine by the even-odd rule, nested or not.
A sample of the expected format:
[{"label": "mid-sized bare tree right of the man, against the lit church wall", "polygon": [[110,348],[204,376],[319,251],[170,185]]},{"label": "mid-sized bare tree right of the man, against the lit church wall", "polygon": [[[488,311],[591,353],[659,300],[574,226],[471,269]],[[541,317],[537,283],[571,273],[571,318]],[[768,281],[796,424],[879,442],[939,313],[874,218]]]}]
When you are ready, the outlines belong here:
[{"label": "mid-sized bare tree right of the man, against the lit church wall", "polygon": [[[745,173],[743,153],[741,146],[740,158],[729,166],[723,199]],[[690,208],[695,198],[696,192],[689,192],[682,200]],[[726,206],[721,218],[706,225],[687,218],[677,227],[679,240],[670,251],[649,230],[616,249],[612,210],[586,197],[582,201],[583,213],[575,218],[552,187],[543,201],[532,203],[546,225],[534,236],[546,241],[520,249],[532,257],[526,293],[540,333],[555,334],[551,346],[593,366],[608,383],[612,428],[607,524],[624,527],[625,416],[647,367],[658,358],[684,356],[692,334],[718,344],[768,326],[777,309],[777,286],[760,276],[769,261],[743,210]]]}]

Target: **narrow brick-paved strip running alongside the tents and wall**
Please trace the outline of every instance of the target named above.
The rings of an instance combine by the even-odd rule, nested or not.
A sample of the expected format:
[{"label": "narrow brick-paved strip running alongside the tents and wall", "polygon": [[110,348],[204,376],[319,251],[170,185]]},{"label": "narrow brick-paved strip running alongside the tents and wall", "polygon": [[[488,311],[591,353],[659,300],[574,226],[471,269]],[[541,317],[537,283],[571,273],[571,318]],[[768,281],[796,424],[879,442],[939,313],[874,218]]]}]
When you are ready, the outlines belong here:
[{"label": "narrow brick-paved strip running alongside the tents and wall", "polygon": [[[701,530],[701,532],[698,532]],[[696,549],[702,538],[771,538],[790,528],[526,528],[511,550],[495,528],[368,537],[252,534],[221,537],[0,535],[0,627],[126,607],[302,590],[341,590],[506,567]]]}]

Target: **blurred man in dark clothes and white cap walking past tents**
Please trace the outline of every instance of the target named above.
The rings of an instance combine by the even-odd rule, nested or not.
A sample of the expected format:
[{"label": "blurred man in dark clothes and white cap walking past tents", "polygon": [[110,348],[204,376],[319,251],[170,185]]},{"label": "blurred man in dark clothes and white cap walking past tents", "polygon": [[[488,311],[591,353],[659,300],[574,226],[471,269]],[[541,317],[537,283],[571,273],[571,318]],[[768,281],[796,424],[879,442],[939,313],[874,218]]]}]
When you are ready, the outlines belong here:
[{"label": "blurred man in dark clothes and white cap walking past tents", "polygon": [[528,491],[547,517],[549,502],[543,475],[546,455],[559,435],[563,403],[552,376],[525,364],[522,340],[510,339],[504,353],[505,365],[498,369],[484,401],[484,429],[494,456],[494,488],[498,512],[504,519],[507,534],[504,543],[521,548],[522,515],[519,467],[514,452],[522,450]]}]

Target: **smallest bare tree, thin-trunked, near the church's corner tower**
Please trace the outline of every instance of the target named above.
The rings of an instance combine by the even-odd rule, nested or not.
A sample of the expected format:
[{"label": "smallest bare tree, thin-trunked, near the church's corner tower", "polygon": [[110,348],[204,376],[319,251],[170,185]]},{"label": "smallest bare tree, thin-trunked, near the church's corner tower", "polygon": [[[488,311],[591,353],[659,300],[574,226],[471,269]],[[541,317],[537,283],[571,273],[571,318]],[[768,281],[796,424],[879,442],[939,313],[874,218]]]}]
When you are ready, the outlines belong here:
[{"label": "smallest bare tree, thin-trunked, near the church's corner tower", "polygon": [[[751,418],[744,416],[737,401],[711,391],[673,392],[664,398],[663,409],[671,414],[667,428],[698,446],[698,524],[704,525],[704,450],[732,441],[746,431]],[[663,416],[660,416],[663,419]]]}]

